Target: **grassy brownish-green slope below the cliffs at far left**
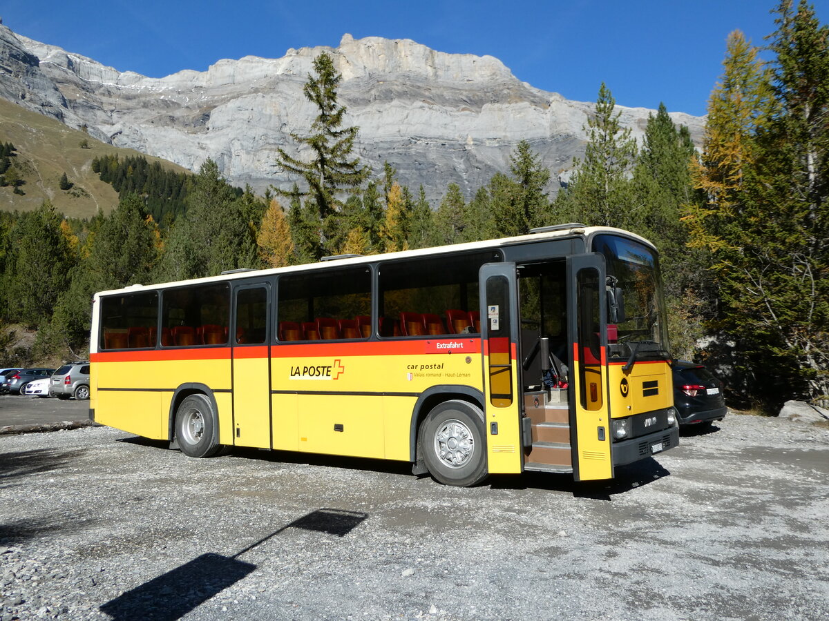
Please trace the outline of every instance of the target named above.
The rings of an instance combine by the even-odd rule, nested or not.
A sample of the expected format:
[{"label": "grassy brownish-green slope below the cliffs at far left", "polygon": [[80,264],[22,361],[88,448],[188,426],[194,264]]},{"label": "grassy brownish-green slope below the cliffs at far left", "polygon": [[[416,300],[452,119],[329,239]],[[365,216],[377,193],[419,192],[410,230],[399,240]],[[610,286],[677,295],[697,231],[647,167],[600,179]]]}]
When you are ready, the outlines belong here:
[{"label": "grassy brownish-green slope below the cliffs at far left", "polygon": [[[84,139],[91,148],[80,147]],[[5,99],[0,99],[0,142],[11,142],[17,147],[17,157],[12,161],[26,181],[21,187],[26,193],[23,196],[14,194],[11,187],[0,187],[0,209],[30,211],[49,199],[58,211],[75,218],[90,218],[99,208],[108,212],[118,203],[118,193],[112,185],[100,181],[92,171],[95,157],[109,153],[122,157],[143,155],[98,142],[84,132]],[[174,171],[188,172],[170,161],[145,157]],[[71,190],[61,190],[58,185],[64,172],[75,184]]]}]

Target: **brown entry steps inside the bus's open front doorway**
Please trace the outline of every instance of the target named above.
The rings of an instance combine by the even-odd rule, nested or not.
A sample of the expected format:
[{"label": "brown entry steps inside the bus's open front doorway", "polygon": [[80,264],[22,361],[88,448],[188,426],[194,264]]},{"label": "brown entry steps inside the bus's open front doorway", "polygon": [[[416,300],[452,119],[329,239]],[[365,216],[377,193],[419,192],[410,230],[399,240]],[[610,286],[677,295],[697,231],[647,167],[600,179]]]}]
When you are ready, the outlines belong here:
[{"label": "brown entry steps inside the bus's open front doorway", "polygon": [[526,392],[524,412],[531,421],[532,444],[524,457],[525,469],[572,472],[570,409],[567,403],[549,402],[547,392]]}]

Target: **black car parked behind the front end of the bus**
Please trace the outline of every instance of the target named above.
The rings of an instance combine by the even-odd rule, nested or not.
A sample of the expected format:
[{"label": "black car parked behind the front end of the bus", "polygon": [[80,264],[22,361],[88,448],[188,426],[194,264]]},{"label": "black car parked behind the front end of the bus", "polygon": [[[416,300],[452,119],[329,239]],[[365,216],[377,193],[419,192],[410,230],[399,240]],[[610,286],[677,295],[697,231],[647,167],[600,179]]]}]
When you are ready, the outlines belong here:
[{"label": "black car parked behind the front end of the bus", "polygon": [[725,418],[723,384],[701,364],[677,360],[673,365],[674,407],[681,426],[709,426]]}]

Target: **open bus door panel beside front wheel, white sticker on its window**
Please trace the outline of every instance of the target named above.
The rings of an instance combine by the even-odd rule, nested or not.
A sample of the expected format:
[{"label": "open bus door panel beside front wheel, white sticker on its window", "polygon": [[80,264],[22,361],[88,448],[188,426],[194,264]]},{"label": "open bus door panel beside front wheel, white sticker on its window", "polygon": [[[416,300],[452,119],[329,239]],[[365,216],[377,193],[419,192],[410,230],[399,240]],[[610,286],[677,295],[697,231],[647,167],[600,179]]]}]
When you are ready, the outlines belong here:
[{"label": "open bus door panel beside front wheel, white sticker on its window", "polygon": [[521,378],[516,264],[481,267],[481,338],[490,473],[521,472]]}]

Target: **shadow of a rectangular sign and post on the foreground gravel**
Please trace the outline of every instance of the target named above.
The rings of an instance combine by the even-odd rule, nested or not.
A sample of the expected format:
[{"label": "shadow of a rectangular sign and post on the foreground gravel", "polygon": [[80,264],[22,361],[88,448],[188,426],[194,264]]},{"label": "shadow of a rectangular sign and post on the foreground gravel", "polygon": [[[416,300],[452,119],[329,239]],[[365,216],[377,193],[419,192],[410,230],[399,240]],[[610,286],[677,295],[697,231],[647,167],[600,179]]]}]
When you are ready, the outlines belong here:
[{"label": "shadow of a rectangular sign and post on the foreground gravel", "polygon": [[368,517],[367,513],[321,508],[299,517],[233,556],[202,554],[192,561],[129,590],[101,605],[101,612],[114,621],[175,621],[245,578],[256,566],[240,561],[245,552],[261,546],[288,528],[324,532],[345,537]]}]

